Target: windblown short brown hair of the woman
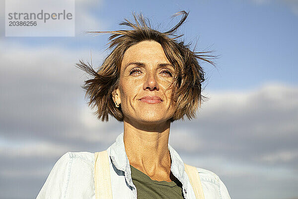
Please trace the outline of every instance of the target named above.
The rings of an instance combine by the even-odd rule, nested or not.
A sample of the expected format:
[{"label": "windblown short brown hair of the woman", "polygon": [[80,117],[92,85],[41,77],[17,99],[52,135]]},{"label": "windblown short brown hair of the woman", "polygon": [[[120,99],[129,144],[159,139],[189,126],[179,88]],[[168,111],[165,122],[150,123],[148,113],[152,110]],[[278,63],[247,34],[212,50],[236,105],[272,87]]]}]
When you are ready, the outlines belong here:
[{"label": "windblown short brown hair of the woman", "polygon": [[181,20],[166,32],[159,32],[152,29],[148,19],[146,21],[142,14],[136,16],[135,13],[133,13],[135,23],[124,19],[125,21],[119,24],[129,26],[132,30],[88,31],[88,33],[112,34],[109,37],[110,42],[108,43],[108,49],[112,50],[112,52],[105,58],[98,71],[92,68],[92,64],[85,64],[81,60],[79,60],[79,63],[76,63],[76,67],[92,76],[92,79],[84,82],[82,88],[86,90],[85,98],[88,99],[88,105],[91,108],[97,108],[94,114],[97,115],[98,119],[108,121],[109,114],[111,114],[117,120],[123,121],[121,106],[115,106],[112,99],[112,92],[119,86],[121,62],[125,51],[132,45],[145,40],[158,42],[175,69],[173,81],[170,84],[172,87],[171,103],[175,104],[175,113],[170,121],[184,120],[184,116],[188,119],[195,117],[198,107],[201,106],[201,102],[207,100],[201,94],[202,83],[205,81],[205,72],[198,63],[198,60],[203,60],[214,65],[210,59],[216,56],[204,55],[204,53],[210,53],[211,51],[191,51],[189,49],[190,44],[186,45],[183,41],[176,40],[183,36],[183,34],[176,35],[175,33],[186,20],[188,13],[183,10],[173,16],[178,15],[182,15]]}]

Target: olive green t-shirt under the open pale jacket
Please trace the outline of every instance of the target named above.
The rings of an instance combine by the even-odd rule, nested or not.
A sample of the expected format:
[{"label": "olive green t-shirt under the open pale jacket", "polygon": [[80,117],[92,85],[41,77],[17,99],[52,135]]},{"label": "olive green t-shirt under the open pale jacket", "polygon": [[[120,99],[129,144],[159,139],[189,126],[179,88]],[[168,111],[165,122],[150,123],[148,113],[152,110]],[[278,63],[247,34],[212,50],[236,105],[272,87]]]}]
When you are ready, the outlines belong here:
[{"label": "olive green t-shirt under the open pale jacket", "polygon": [[138,199],[184,199],[182,184],[178,179],[172,182],[155,181],[133,166],[131,171]]}]

